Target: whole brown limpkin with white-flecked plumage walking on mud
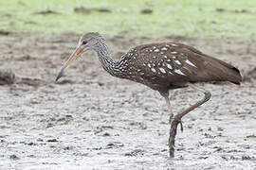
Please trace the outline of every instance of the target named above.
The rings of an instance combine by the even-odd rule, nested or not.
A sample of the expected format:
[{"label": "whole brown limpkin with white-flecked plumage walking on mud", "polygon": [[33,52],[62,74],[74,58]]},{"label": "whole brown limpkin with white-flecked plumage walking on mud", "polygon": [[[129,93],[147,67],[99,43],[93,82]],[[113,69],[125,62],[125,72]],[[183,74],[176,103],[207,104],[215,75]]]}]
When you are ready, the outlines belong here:
[{"label": "whole brown limpkin with white-flecked plumage walking on mud", "polygon": [[86,50],[94,50],[98,53],[103,69],[110,75],[142,83],[158,91],[165,98],[168,110],[171,112],[169,137],[171,157],[174,157],[174,138],[176,127],[181,124],[181,118],[207,102],[210,99],[210,92],[192,85],[193,88],[205,94],[204,98],[173,118],[169,90],[185,88],[188,87],[188,83],[195,82],[230,81],[240,84],[242,81],[239,70],[234,66],[214,59],[192,46],[177,42],[138,45],[124,54],[121,59],[112,59],[105,39],[97,32],[82,36],[78,47],[61,68],[56,81],[63,76],[64,70]]}]

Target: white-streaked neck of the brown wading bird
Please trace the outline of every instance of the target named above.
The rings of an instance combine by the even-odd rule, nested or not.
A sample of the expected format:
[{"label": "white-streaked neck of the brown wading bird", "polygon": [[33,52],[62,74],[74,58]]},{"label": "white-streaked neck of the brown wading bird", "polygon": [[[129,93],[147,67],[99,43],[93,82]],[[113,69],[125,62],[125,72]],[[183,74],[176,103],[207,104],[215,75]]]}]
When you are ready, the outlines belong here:
[{"label": "white-streaked neck of the brown wading bird", "polygon": [[110,57],[108,47],[104,42],[104,40],[99,42],[99,46],[96,51],[98,53],[103,69],[112,76],[119,76],[120,75],[120,70],[118,67],[119,61]]}]

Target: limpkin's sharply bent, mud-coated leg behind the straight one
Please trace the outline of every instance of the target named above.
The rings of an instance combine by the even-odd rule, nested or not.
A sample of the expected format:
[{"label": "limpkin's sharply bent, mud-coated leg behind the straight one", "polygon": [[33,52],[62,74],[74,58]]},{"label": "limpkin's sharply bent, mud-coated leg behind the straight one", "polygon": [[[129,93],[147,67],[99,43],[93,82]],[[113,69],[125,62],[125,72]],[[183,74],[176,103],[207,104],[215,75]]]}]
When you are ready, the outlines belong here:
[{"label": "limpkin's sharply bent, mud-coated leg behind the straight one", "polygon": [[[177,126],[178,124],[181,123],[181,118],[183,116],[185,116],[187,113],[189,113],[191,110],[194,110],[195,108],[201,106],[202,104],[204,104],[205,102],[207,102],[210,99],[210,92],[200,89],[194,85],[191,85],[191,87],[201,93],[204,93],[205,96],[203,99],[199,100],[198,102],[196,102],[195,104],[193,104],[191,107],[189,107],[186,110],[183,110],[182,112],[176,114],[174,116],[174,119],[172,119],[172,123],[171,123],[171,128],[170,128],[170,132],[169,132],[169,153],[170,153],[170,158],[174,158],[174,143],[175,143],[175,136],[176,136],[176,131],[177,131]],[[183,129],[183,127],[182,127]]]}]

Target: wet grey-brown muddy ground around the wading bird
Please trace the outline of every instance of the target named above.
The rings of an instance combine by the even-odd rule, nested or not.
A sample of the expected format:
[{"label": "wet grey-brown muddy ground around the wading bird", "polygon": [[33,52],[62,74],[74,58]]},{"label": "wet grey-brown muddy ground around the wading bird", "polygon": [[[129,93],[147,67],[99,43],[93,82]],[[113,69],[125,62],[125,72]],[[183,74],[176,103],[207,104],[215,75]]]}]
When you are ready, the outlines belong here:
[{"label": "wet grey-brown muddy ground around the wading bird", "polygon": [[[245,77],[200,84],[210,101],[183,119],[175,159],[168,158],[168,116],[157,92],[109,76],[94,52],[55,76],[78,35],[0,35],[0,169],[256,169],[256,42],[107,37],[113,56],[146,42],[191,44],[238,66]],[[174,112],[195,102],[192,89],[171,92]]]}]

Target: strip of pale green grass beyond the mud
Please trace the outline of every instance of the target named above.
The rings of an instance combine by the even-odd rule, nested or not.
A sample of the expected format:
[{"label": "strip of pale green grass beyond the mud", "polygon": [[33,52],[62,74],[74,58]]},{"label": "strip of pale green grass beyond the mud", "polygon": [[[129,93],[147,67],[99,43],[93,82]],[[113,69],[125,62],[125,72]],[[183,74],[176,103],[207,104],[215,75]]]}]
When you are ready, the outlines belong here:
[{"label": "strip of pale green grass beyond the mud", "polygon": [[[74,8],[79,7],[110,8],[112,12],[75,12]],[[152,8],[153,13],[141,14],[142,8]],[[47,9],[58,14],[35,14]],[[243,9],[246,11],[234,12]],[[255,0],[0,0],[0,30],[247,39],[256,33],[256,3]]]}]

